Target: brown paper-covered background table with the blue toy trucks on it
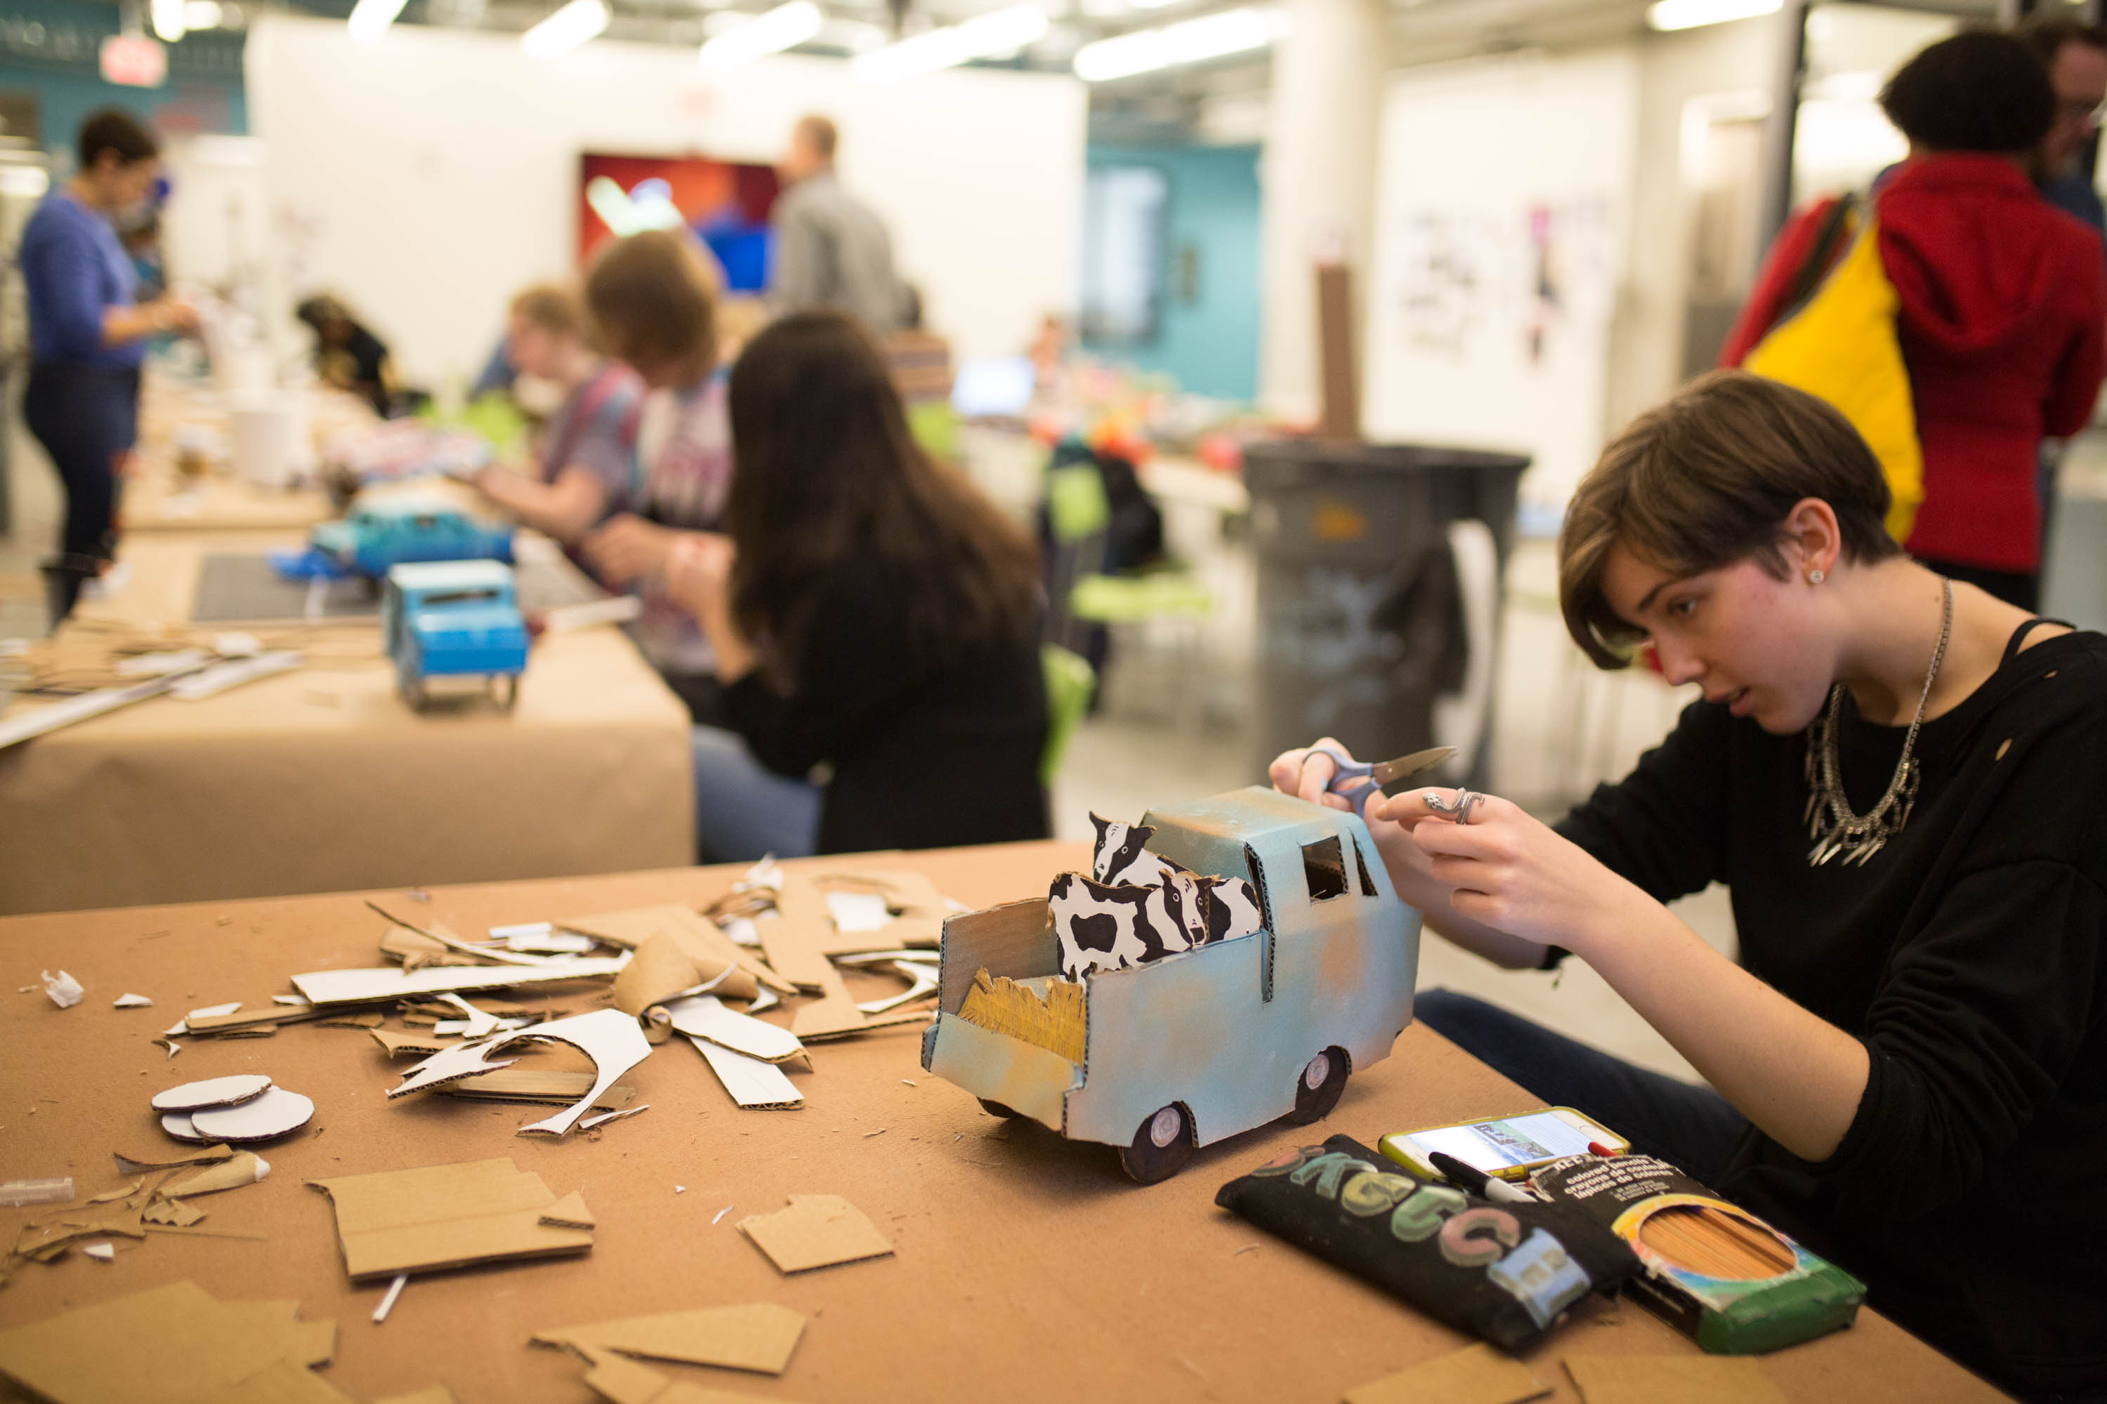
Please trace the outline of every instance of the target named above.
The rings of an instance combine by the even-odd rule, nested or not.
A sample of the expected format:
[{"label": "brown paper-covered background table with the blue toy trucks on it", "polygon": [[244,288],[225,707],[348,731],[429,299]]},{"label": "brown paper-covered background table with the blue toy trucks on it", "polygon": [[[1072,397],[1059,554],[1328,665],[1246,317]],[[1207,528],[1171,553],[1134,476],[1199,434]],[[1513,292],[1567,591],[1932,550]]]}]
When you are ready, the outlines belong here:
[{"label": "brown paper-covered background table with the blue toy trucks on it", "polygon": [[[188,621],[200,560],[265,541],[129,539],[131,581],[84,602],[82,627]],[[303,646],[297,627],[249,631]],[[0,751],[0,911],[691,861],[687,709],[619,629],[537,640],[510,714],[411,711],[373,621],[308,640],[308,667]]]}]

